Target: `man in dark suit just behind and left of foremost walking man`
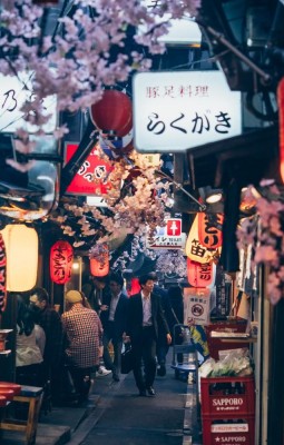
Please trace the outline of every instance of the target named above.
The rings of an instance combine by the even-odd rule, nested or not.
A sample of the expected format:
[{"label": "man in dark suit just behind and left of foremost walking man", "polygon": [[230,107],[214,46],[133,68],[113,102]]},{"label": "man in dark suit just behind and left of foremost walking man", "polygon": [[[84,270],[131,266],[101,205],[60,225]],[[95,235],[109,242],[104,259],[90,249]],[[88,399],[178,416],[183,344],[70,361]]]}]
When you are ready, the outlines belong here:
[{"label": "man in dark suit just behind and left of foremost walking man", "polygon": [[[100,319],[104,327],[102,345],[104,362],[107,369],[111,369],[112,378],[119,382],[121,363],[123,334],[126,332],[127,309],[129,298],[123,291],[124,278],[119,274],[108,277],[110,293],[102,296]],[[114,360],[109,354],[109,344],[114,347]]]}]

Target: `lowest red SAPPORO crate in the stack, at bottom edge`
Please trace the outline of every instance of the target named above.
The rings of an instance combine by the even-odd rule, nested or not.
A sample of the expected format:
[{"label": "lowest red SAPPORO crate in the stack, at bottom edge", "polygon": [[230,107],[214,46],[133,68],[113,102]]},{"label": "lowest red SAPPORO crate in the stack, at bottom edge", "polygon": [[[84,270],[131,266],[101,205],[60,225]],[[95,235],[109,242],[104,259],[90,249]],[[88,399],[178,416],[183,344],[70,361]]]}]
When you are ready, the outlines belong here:
[{"label": "lowest red SAPPORO crate in the stack, at bottom edge", "polygon": [[203,417],[204,445],[255,445],[255,418],[213,419]]}]

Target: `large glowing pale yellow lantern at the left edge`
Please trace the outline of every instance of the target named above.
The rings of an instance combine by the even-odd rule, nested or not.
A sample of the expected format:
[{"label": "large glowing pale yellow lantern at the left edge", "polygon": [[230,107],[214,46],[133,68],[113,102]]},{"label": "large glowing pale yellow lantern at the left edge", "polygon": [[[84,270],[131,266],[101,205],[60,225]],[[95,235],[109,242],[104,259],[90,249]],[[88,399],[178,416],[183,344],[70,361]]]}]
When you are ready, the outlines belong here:
[{"label": "large glowing pale yellow lantern at the left edge", "polygon": [[7,290],[30,290],[37,283],[38,234],[25,224],[1,230],[7,257]]}]

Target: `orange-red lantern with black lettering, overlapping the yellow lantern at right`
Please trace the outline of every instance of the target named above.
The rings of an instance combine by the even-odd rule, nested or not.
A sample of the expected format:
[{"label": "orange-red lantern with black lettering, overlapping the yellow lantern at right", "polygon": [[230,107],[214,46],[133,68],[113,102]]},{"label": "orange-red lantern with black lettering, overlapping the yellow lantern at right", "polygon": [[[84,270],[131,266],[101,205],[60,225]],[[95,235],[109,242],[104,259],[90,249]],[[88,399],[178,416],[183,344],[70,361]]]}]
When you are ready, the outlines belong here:
[{"label": "orange-red lantern with black lettering, overlapping the yellow lantern at right", "polygon": [[223,214],[198,214],[198,240],[207,249],[217,249],[222,246]]}]

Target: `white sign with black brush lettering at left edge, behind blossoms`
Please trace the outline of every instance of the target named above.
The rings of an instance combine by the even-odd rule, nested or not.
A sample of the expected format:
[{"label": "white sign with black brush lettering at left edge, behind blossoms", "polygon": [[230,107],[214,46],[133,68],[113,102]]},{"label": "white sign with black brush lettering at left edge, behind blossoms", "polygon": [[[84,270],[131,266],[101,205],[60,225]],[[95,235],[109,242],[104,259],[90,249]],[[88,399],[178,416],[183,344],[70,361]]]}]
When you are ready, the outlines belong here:
[{"label": "white sign with black brush lettering at left edge, behind blossoms", "polygon": [[[19,72],[16,76],[0,73],[0,131],[14,132],[18,128],[33,134],[37,126],[23,120],[21,107],[26,100],[35,99],[32,93],[32,72]],[[57,126],[57,99],[48,96],[43,99],[45,115],[51,115],[49,121],[42,126],[46,134],[51,134]]]}]

